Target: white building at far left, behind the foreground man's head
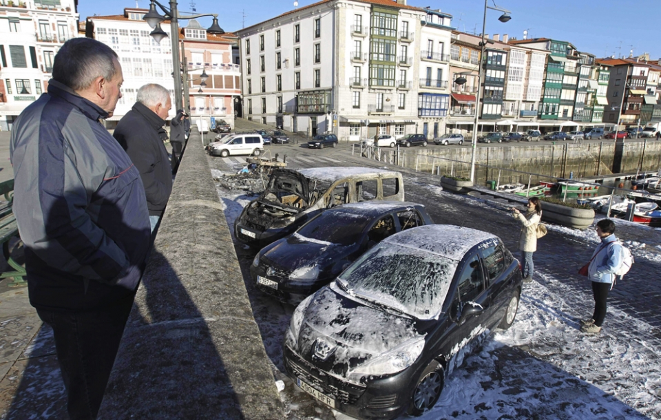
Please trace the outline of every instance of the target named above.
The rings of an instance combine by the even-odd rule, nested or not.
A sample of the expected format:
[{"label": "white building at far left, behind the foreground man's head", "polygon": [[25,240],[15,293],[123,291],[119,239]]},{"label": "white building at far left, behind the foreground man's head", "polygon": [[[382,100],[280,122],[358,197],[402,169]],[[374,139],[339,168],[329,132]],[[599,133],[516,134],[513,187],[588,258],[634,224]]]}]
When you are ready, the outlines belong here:
[{"label": "white building at far left, behind the foreground man's head", "polygon": [[0,1],[0,129],[48,87],[53,59],[78,34],[72,0]]}]

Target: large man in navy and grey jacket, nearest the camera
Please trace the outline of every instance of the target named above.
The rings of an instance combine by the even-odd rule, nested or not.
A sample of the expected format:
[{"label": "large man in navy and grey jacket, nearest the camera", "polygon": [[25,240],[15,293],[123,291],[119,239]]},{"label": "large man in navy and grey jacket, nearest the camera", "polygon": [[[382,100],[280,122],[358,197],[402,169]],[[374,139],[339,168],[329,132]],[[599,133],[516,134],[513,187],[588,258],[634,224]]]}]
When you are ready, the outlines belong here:
[{"label": "large man in navy and grey jacket, nearest the camera", "polygon": [[53,329],[71,419],[96,418],[149,251],[140,174],[99,121],[122,82],[107,45],[67,41],[10,142],[30,304]]}]

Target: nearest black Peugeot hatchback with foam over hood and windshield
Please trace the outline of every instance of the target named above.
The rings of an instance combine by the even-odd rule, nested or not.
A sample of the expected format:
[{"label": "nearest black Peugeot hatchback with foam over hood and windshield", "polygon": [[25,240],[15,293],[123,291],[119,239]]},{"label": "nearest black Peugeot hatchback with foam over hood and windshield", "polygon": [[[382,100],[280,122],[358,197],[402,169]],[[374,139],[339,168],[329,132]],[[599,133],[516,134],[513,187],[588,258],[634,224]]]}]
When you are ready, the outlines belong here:
[{"label": "nearest black Peugeot hatchback with foam over hood and windshield", "polygon": [[522,284],[518,260],[491,233],[408,229],[297,306],[285,333],[285,370],[351,417],[423,414],[439,400],[446,372],[491,330],[512,326]]}]

